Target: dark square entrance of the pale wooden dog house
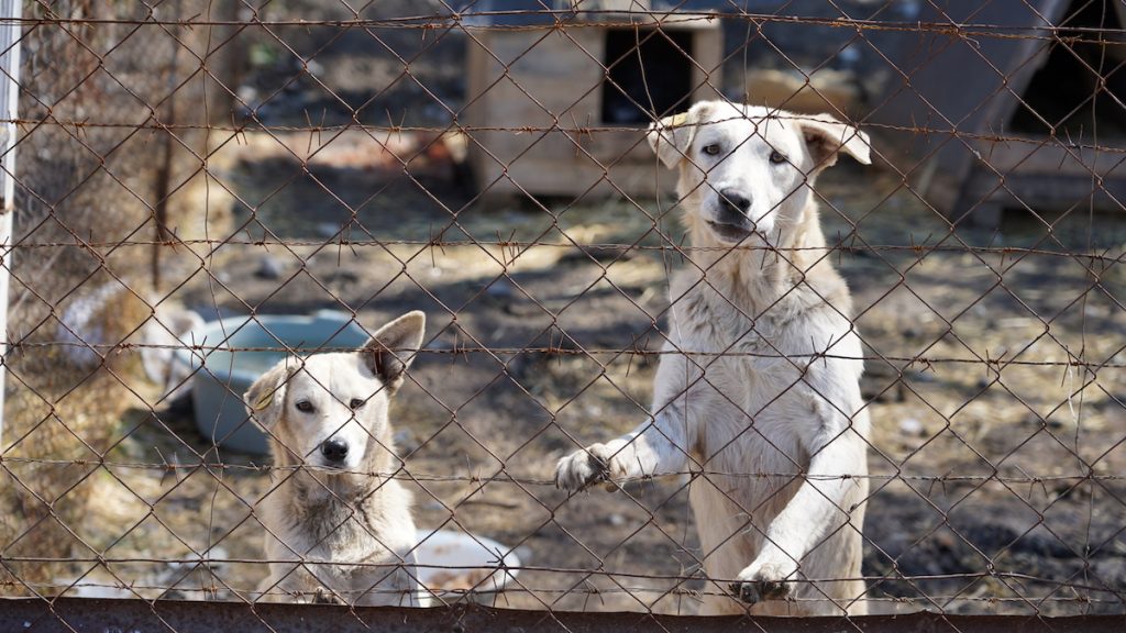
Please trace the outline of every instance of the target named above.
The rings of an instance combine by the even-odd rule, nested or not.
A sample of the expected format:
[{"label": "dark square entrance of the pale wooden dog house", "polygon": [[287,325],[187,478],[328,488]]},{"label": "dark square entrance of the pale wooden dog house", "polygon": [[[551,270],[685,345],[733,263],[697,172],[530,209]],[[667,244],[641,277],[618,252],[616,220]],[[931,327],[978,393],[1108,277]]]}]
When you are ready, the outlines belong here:
[{"label": "dark square entrance of the pale wooden dog house", "polygon": [[[641,44],[638,45],[638,42]],[[647,125],[688,105],[692,93],[692,33],[645,28],[606,32],[602,123]]]}]

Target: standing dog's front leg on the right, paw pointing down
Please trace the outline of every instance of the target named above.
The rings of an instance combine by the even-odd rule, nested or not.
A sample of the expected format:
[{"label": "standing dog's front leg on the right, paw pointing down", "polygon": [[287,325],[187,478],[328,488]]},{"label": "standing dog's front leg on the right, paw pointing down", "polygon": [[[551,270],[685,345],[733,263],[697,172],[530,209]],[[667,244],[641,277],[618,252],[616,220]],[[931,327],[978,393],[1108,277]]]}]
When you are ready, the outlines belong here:
[{"label": "standing dog's front leg on the right, paw pointing down", "polygon": [[[811,451],[808,474],[794,498],[766,531],[758,556],[739,573],[732,592],[745,603],[780,599],[790,594],[788,580],[796,580],[798,561],[835,529],[859,529],[846,525],[864,476],[864,440],[849,426],[838,429]],[[843,527],[842,527],[843,526]]]}]

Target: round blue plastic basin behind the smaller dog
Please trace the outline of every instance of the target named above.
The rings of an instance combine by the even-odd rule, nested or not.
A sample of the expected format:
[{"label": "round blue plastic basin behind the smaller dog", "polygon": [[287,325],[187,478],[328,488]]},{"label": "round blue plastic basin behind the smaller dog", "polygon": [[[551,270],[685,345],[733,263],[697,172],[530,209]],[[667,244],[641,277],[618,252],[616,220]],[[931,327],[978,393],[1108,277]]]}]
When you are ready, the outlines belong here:
[{"label": "round blue plastic basin behind the smaller dog", "polygon": [[239,316],[193,330],[185,340],[199,348],[177,349],[176,358],[194,372],[191,401],[199,433],[224,449],[265,454],[266,435],[242,403],[242,394],[258,376],[286,357],[286,346],[307,355],[356,349],[367,339],[351,315],[332,310],[312,316]]}]

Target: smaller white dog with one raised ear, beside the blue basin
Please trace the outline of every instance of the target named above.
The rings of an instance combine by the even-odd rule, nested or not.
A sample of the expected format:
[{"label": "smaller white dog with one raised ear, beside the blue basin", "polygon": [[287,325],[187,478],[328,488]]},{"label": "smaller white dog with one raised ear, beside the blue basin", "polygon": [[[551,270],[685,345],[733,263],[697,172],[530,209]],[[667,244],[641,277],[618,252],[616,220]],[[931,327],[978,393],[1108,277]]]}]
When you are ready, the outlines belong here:
[{"label": "smaller white dog with one raised ear, beside the blue basin", "polygon": [[263,598],[419,606],[410,493],[386,476],[401,464],[387,408],[425,328],[410,312],[354,353],[287,358],[247,391],[278,469],[257,509]]}]

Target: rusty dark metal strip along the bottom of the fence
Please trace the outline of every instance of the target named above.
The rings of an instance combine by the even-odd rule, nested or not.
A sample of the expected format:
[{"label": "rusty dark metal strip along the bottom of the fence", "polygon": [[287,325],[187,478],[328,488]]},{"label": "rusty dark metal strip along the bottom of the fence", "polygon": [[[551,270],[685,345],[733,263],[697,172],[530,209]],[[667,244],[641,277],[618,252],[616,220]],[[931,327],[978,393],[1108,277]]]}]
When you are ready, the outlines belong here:
[{"label": "rusty dark metal strip along the bottom of the fence", "polygon": [[1120,633],[1124,615],[1074,617],[965,616],[914,613],[841,617],[691,617],[637,613],[498,609],[457,605],[429,609],[332,605],[247,605],[90,598],[0,599],[0,631],[54,633]]}]

